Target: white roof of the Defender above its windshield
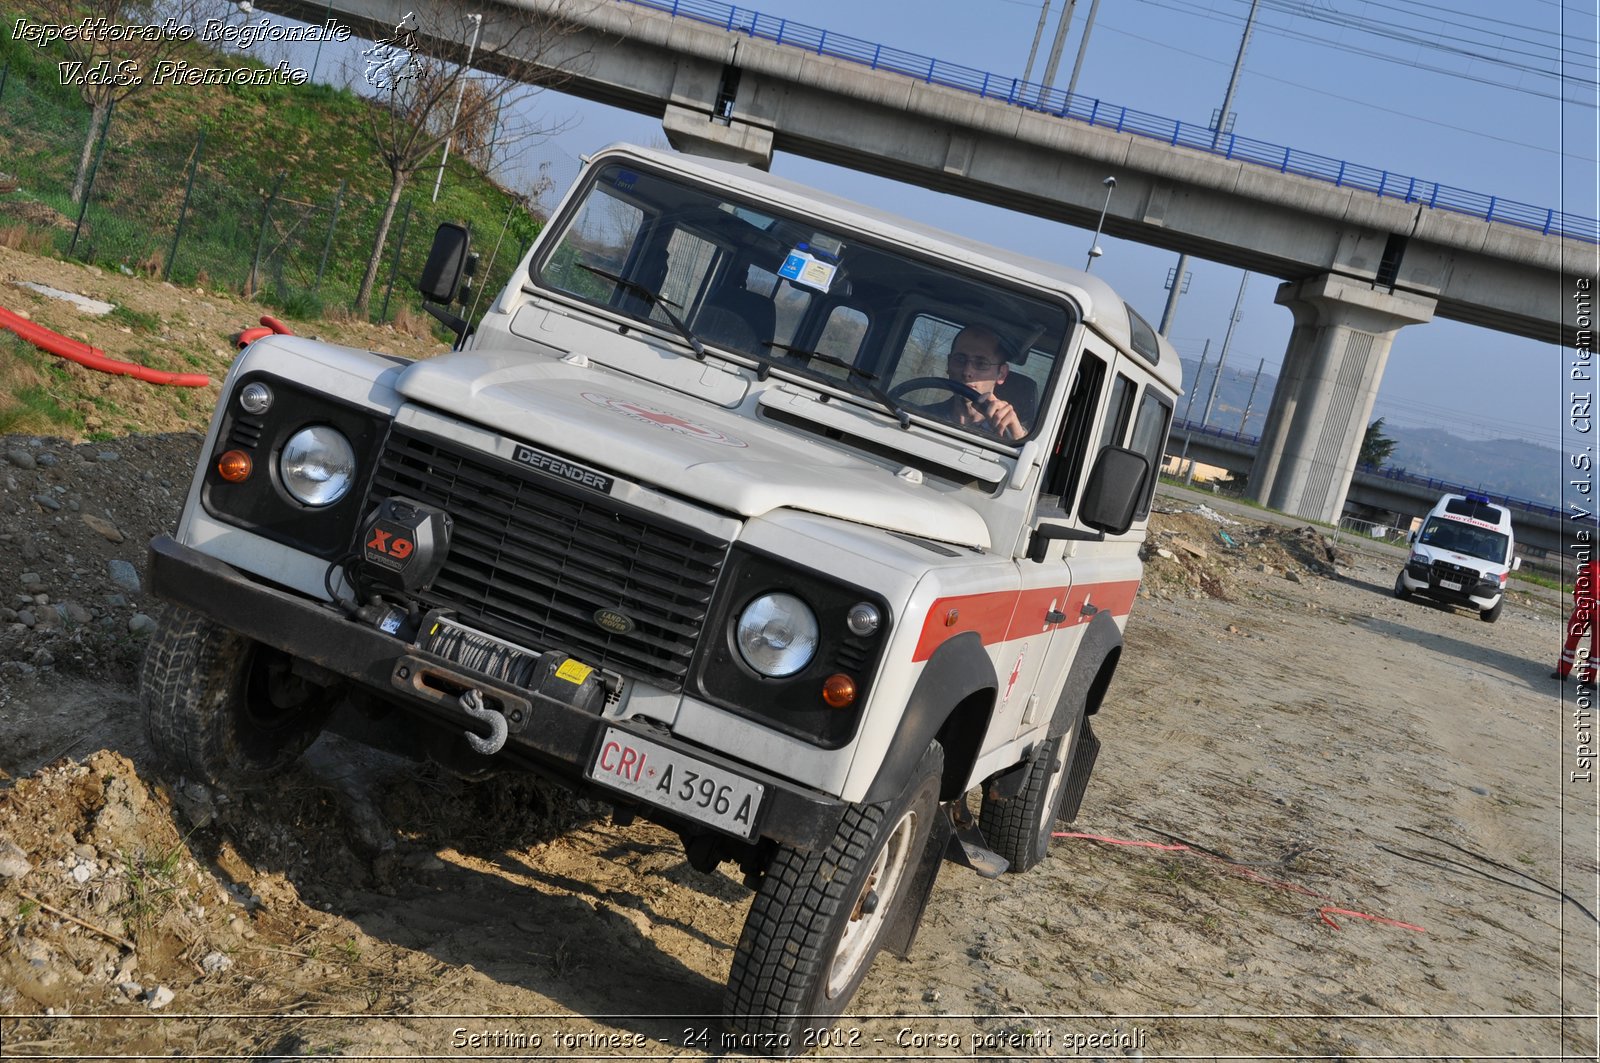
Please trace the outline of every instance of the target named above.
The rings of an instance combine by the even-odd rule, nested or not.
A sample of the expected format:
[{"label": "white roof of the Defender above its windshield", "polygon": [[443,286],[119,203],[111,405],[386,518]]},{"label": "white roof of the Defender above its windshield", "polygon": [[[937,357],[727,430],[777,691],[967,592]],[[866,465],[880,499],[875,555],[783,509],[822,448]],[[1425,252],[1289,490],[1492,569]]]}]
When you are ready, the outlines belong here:
[{"label": "white roof of the Defender above its windshield", "polygon": [[[1130,320],[1131,307],[1109,283],[1082,269],[1070,269],[1059,263],[1048,263],[994,247],[992,243],[971,240],[742,163],[664,152],[637,144],[610,144],[595,152],[590,162],[598,163],[611,155],[630,155],[654,162],[667,170],[686,171],[704,181],[778,202],[800,213],[837,218],[845,227],[870,232],[872,235],[925,250],[941,258],[968,263],[987,272],[1016,277],[1024,283],[1058,291],[1080,307],[1086,325],[1117,344],[1120,351],[1150,367],[1150,360],[1133,346],[1134,325]],[[1147,325],[1146,328],[1149,330]],[[1154,330],[1149,331],[1154,335]],[[1182,389],[1182,365],[1178,360],[1178,351],[1158,335],[1155,341],[1160,357],[1150,367],[1150,371],[1158,381],[1171,387],[1173,392],[1179,392]]]}]

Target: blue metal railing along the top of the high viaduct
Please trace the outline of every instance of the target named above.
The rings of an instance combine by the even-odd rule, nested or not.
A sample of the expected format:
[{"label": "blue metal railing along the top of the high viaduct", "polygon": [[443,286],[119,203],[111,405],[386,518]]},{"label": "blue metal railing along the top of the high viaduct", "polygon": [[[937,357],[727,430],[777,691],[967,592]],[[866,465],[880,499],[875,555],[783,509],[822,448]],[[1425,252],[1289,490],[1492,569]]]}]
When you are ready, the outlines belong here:
[{"label": "blue metal railing along the top of the high viaduct", "polygon": [[1438,184],[1437,181],[1422,181],[1390,173],[1389,170],[1363,166],[1246,136],[1218,133],[1198,122],[1179,122],[1144,110],[1131,110],[1093,96],[1069,94],[1059,88],[1048,88],[1037,82],[1002,77],[958,62],[920,56],[912,51],[861,40],[859,37],[834,34],[816,26],[806,26],[805,22],[718,3],[717,0],[618,0],[618,3],[664,11],[674,18],[693,19],[728,32],[770,40],[776,45],[811,51],[819,56],[859,62],[874,70],[890,70],[891,74],[914,77],[928,85],[944,85],[946,88],[973,93],[986,99],[998,99],[1016,107],[1027,107],[1029,110],[1074,118],[1118,133],[1163,141],[1174,147],[1189,147],[1224,158],[1267,166],[1278,173],[1291,173],[1338,187],[1371,192],[1381,199],[1398,199],[1434,210],[1448,210],[1456,215],[1467,215],[1469,218],[1531,229],[1546,235],[1600,243],[1600,221],[1584,218],[1582,215],[1558,211],[1550,207],[1518,203],[1498,195],[1470,192]]}]

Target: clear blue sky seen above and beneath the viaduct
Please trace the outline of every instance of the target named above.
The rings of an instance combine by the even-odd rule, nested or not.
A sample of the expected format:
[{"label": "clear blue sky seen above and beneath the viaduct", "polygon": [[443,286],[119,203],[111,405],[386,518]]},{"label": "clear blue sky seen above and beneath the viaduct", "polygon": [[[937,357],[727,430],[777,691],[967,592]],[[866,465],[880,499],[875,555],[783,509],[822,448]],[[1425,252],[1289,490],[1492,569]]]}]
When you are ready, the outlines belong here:
[{"label": "clear blue sky seen above and beneath the viaduct", "polygon": [[[710,0],[696,0],[709,3]],[[1061,11],[1050,0],[1034,80],[1043,78]],[[1600,218],[1597,0],[1258,0],[1230,106],[1234,131]],[[758,0],[749,5],[834,34],[1003,77],[1024,74],[1043,0]],[[1066,86],[1091,0],[1077,0],[1054,83]],[[1251,0],[1101,0],[1075,91],[1205,125],[1221,107]],[[1565,77],[1563,77],[1565,75]],[[533,102],[566,128],[526,149],[558,184],[578,157],[613,141],[664,142],[659,120],[557,93]],[[773,171],[942,229],[1078,266],[1093,234],[982,203],[779,154]],[[1101,239],[1094,272],[1160,322],[1176,255]],[[1210,341],[1214,365],[1243,274],[1192,258],[1170,338],[1189,360]],[[1291,317],[1278,280],[1250,275],[1229,370],[1275,373]],[[1394,341],[1374,416],[1566,448],[1570,352],[1552,343],[1437,319]],[[1266,402],[1259,399],[1258,402]],[[1205,395],[1195,403],[1198,419]],[[1563,431],[1565,429],[1565,431]],[[1560,469],[1552,469],[1552,477]]]}]

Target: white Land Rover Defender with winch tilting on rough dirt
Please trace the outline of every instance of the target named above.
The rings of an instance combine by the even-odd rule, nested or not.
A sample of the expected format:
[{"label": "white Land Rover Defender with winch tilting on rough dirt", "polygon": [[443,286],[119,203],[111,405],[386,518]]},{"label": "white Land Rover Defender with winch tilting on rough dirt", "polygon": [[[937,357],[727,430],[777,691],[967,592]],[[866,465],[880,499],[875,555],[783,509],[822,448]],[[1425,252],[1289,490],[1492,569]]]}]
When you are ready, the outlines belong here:
[{"label": "white Land Rover Defender with winch tilting on rough dirt", "polygon": [[1075,815],[1178,357],[1085,272],[637,147],[475,330],[466,255],[422,277],[450,354],[240,354],[150,546],[150,738],[248,783],[358,711],[659,821],[757,892],[739,1044],[802,1052],[941,861],[1026,871]]}]

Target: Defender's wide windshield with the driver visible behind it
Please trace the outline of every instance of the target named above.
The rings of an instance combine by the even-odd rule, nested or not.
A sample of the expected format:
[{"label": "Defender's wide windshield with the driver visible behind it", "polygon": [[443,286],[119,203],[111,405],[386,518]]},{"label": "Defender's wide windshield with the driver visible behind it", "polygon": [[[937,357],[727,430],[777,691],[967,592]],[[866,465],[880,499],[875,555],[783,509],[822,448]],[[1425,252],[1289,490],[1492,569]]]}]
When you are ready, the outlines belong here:
[{"label": "Defender's wide windshield with the driver visible behind it", "polygon": [[1072,323],[957,263],[637,165],[602,166],[549,247],[539,285],[1006,442],[1035,431]]}]

